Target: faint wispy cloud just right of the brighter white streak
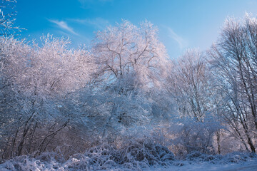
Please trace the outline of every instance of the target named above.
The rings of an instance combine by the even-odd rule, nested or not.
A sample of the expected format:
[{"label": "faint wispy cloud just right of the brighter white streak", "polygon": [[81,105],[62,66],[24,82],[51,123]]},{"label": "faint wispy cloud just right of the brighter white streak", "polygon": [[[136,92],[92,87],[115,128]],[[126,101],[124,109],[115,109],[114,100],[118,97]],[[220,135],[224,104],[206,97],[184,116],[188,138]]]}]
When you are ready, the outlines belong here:
[{"label": "faint wispy cloud just right of the brighter white streak", "polygon": [[85,25],[91,25],[95,28],[104,29],[106,26],[108,26],[110,23],[106,19],[102,18],[95,18],[95,19],[73,19],[73,21],[79,23],[79,24],[85,24]]}]

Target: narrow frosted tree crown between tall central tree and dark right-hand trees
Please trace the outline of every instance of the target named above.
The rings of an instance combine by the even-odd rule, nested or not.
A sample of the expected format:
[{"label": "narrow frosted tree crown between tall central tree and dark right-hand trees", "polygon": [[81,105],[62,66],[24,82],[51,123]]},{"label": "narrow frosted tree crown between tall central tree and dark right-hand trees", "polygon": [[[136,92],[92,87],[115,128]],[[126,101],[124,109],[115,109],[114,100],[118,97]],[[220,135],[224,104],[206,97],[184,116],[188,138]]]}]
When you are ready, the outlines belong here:
[{"label": "narrow frosted tree crown between tall central tree and dark right-hand trees", "polygon": [[200,51],[188,50],[173,62],[167,87],[176,99],[180,115],[203,122],[206,114],[211,112],[207,60]]}]

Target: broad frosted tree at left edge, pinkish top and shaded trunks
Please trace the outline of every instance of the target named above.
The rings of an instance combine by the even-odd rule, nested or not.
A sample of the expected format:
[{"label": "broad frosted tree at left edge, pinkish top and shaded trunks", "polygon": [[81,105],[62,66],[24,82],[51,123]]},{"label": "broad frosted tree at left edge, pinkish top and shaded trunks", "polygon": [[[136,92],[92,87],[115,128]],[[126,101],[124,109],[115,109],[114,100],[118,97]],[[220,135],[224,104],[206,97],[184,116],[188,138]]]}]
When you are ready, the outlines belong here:
[{"label": "broad frosted tree at left edge, pinkish top and shaded trunks", "polygon": [[56,133],[76,118],[71,108],[64,111],[66,95],[86,86],[96,68],[86,49],[69,49],[64,38],[48,35],[41,41],[38,46],[1,38],[1,140],[6,141],[1,144],[13,152],[7,156],[46,150]]}]

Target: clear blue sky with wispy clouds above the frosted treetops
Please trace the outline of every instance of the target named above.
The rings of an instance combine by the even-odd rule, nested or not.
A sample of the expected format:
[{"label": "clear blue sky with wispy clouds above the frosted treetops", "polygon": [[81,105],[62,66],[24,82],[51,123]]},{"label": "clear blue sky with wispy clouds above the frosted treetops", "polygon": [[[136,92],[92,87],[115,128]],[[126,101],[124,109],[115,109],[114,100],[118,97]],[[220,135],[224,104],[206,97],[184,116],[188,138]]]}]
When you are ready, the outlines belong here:
[{"label": "clear blue sky with wispy clouds above the frosted treetops", "polygon": [[21,37],[69,36],[75,47],[121,19],[133,24],[147,19],[176,58],[186,48],[209,48],[228,16],[242,18],[246,11],[256,16],[257,0],[17,0],[16,11],[16,25],[26,28]]}]

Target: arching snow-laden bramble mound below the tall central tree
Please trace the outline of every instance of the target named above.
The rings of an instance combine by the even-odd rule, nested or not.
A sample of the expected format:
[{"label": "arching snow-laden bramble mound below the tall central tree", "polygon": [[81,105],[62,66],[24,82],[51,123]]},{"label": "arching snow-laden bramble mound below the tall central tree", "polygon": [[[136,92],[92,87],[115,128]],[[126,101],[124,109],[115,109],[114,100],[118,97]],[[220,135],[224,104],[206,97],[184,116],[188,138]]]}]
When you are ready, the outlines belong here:
[{"label": "arching snow-laden bramble mound below the tall central tree", "polygon": [[[77,161],[74,164],[74,161]],[[155,144],[150,140],[133,140],[124,143],[121,148],[104,144],[87,150],[84,155],[74,155],[69,168],[103,170],[122,165],[124,168],[134,169],[151,167],[153,165],[171,165],[175,160],[168,148]]]}]

